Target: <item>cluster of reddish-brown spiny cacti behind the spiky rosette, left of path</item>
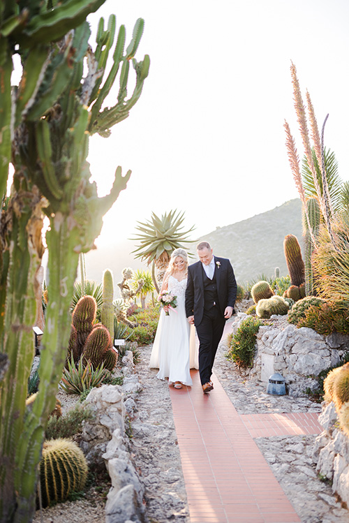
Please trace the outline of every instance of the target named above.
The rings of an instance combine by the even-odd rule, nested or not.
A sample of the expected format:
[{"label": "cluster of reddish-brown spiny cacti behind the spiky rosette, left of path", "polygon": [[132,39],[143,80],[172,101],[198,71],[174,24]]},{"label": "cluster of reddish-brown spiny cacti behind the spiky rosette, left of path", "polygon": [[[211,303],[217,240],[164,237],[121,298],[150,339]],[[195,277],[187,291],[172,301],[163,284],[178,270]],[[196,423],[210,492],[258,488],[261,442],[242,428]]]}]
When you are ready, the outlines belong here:
[{"label": "cluster of reddish-brown spiny cacti behind the spiky rosette, left of path", "polygon": [[73,354],[75,363],[84,358],[94,368],[104,362],[104,368],[112,371],[117,364],[117,352],[112,346],[109,330],[102,323],[94,324],[95,319],[96,300],[93,296],[82,296],[73,311],[68,358]]}]

